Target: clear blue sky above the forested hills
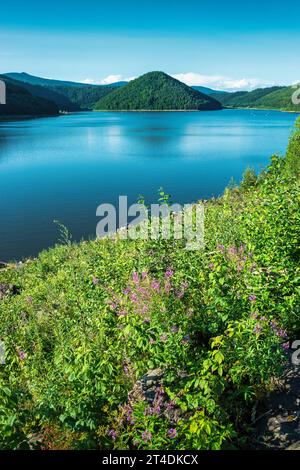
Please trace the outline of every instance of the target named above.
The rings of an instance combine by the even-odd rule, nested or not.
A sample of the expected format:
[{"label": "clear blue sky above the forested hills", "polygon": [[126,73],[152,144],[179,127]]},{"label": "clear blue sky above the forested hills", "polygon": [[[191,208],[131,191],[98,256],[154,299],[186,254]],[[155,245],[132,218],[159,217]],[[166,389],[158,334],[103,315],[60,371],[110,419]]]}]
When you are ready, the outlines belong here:
[{"label": "clear blue sky above the forested hills", "polygon": [[190,85],[251,89],[300,80],[300,3],[3,2],[0,73],[108,83],[163,70]]}]

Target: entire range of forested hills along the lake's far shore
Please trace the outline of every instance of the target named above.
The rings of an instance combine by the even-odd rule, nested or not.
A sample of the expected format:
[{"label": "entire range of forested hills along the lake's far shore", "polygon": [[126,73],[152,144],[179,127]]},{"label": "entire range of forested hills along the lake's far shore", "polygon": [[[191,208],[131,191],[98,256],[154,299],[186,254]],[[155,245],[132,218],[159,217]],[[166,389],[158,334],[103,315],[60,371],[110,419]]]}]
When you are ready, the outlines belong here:
[{"label": "entire range of forested hills along the lake's far shore", "polygon": [[[139,77],[136,80],[132,80],[130,82],[126,81],[119,81],[111,84],[106,84],[106,85],[96,85],[96,84],[87,84],[87,83],[78,83],[78,82],[72,82],[72,81],[66,81],[66,80],[55,80],[55,79],[50,79],[50,78],[42,78],[42,77],[36,77],[34,75],[30,75],[25,72],[10,72],[3,74],[2,77],[6,78],[7,80],[10,80],[11,86],[14,87],[19,87],[18,93],[14,94],[14,103],[15,103],[15,111],[12,107],[12,101],[10,103],[10,110],[11,114],[18,114],[17,110],[21,110],[22,114],[24,111],[24,105],[25,105],[25,96],[27,96],[27,103],[29,106],[29,102],[31,101],[32,104],[32,112],[36,112],[35,106],[37,103],[40,103],[41,106],[41,114],[43,114],[43,110],[48,108],[50,110],[50,103],[52,102],[52,112],[56,113],[57,108],[60,111],[80,111],[80,110],[93,110],[93,109],[100,109],[100,102],[101,106],[112,106],[111,100],[116,100],[120,98],[120,95],[114,95],[113,98],[109,99],[108,96],[111,95],[112,93],[121,93],[121,90],[126,88],[126,94],[127,94],[127,102],[126,100],[122,102],[124,95],[121,93],[121,99],[120,103],[117,103],[114,101],[114,106],[119,109],[119,105],[122,104],[122,106],[125,106],[125,109],[133,109],[134,106],[145,106],[145,109],[153,109],[153,103],[151,102],[151,99],[155,98],[155,100],[159,102],[159,109],[170,109],[170,104],[172,106],[175,106],[174,109],[188,109],[189,106],[191,106],[191,109],[198,109],[197,106],[195,106],[195,99],[199,101],[199,107],[200,109],[205,109],[205,107],[208,107],[211,105],[212,108],[214,105],[216,106],[216,101],[218,103],[221,103],[223,107],[227,108],[258,108],[258,109],[279,109],[283,111],[295,111],[295,112],[300,112],[300,106],[295,105],[292,103],[292,94],[295,92],[295,89],[293,87],[287,87],[287,86],[274,86],[274,87],[268,87],[268,88],[258,88],[253,91],[238,91],[238,92],[227,92],[227,91],[220,91],[220,90],[213,90],[208,87],[203,87],[203,86],[192,86],[189,87],[185,85],[182,82],[179,82],[176,80],[177,85],[181,84],[183,87],[185,87],[185,91],[183,91],[183,88],[181,88],[181,92],[179,92],[179,89],[177,89],[177,98],[176,98],[176,93],[175,95],[173,94],[173,86],[169,88],[169,98],[167,97],[167,91],[164,89],[163,93],[159,95],[158,91],[154,93],[152,98],[149,98],[149,94],[153,93],[154,88],[155,88],[155,83],[151,83],[155,78],[155,73],[160,73],[164,74],[164,72],[150,72],[149,74],[145,74],[142,77],[148,76],[147,83],[143,85],[144,90],[138,89],[135,92],[131,93],[130,88],[128,89],[127,87],[131,84],[136,82],[136,80],[141,79],[142,77]],[[153,75],[154,74],[154,75]],[[164,74],[165,77],[169,77],[172,80],[175,80],[174,78],[168,76],[167,74]],[[154,81],[155,81],[154,80]],[[169,82],[170,84],[170,82]],[[132,86],[132,85],[131,85]],[[160,86],[160,85],[159,85]],[[157,86],[156,86],[157,88]],[[8,88],[8,92],[11,88]],[[22,89],[22,91],[21,91]],[[148,89],[148,92],[146,91]],[[16,88],[14,88],[16,90]],[[129,91],[128,91],[129,90]],[[27,91],[27,94],[24,94],[24,91]],[[196,98],[195,95],[191,95],[193,92],[198,92],[202,95],[201,99],[198,95]],[[137,97],[134,95],[136,93],[139,93],[139,98],[137,100]],[[141,95],[142,93],[142,95]],[[147,93],[148,93],[148,101],[147,101]],[[164,95],[164,96],[163,96]],[[18,103],[17,96],[19,96],[20,103]],[[31,97],[36,97],[40,98],[41,100],[45,101],[38,101],[35,100],[35,105],[33,104],[33,99]],[[155,97],[156,96],[156,97]],[[185,96],[185,99],[183,98]],[[193,98],[192,98],[193,96]],[[102,101],[107,97],[108,101]],[[128,102],[128,99],[130,98],[131,102],[133,105],[131,105]],[[142,99],[141,99],[142,98]],[[149,101],[150,99],[150,101]],[[177,100],[177,102],[176,102]],[[201,101],[202,100],[202,101]],[[214,101],[210,101],[214,100]],[[139,102],[138,102],[139,101]],[[205,102],[207,105],[205,105]],[[210,103],[210,105],[209,105]],[[22,105],[21,105],[22,104]],[[54,106],[53,106],[54,105]],[[220,105],[219,105],[220,106]],[[154,106],[155,107],[155,106]],[[28,108],[28,109],[29,109]],[[109,109],[110,109],[109,108]],[[141,109],[138,107],[137,109]],[[0,109],[0,113],[7,114],[8,107],[6,106],[6,111],[4,110],[3,106],[2,109]]]}]

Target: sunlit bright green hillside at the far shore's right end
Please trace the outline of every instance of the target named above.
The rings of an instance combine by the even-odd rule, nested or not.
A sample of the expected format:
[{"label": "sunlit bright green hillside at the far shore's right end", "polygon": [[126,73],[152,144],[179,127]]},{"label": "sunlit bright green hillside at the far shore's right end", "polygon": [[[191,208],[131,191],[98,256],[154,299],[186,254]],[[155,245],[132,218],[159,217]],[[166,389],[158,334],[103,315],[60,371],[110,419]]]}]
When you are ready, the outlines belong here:
[{"label": "sunlit bright green hillside at the far shore's right end", "polygon": [[262,108],[282,111],[300,111],[300,105],[292,103],[292,87],[258,88],[253,91],[212,94],[223,106],[229,108]]}]

